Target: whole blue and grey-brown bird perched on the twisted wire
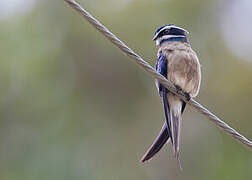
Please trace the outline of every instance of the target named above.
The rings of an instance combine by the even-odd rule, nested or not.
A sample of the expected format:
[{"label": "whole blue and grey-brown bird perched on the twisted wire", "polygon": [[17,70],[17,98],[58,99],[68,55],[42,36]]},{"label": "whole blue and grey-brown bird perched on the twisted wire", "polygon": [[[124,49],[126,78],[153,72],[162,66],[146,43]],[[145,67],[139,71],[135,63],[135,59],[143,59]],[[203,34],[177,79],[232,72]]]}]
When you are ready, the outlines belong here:
[{"label": "whole blue and grey-brown bird perched on the twisted wire", "polygon": [[[178,91],[187,95],[188,100],[197,96],[200,89],[201,70],[196,53],[192,50],[188,31],[174,24],[161,26],[154,33],[153,40],[158,47],[156,70],[174,84]],[[156,80],[162,98],[165,123],[142,162],[150,160],[170,139],[174,155],[179,160],[181,115],[186,103],[169,92]]]}]

